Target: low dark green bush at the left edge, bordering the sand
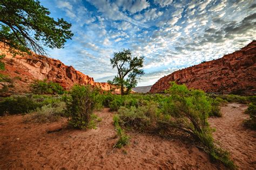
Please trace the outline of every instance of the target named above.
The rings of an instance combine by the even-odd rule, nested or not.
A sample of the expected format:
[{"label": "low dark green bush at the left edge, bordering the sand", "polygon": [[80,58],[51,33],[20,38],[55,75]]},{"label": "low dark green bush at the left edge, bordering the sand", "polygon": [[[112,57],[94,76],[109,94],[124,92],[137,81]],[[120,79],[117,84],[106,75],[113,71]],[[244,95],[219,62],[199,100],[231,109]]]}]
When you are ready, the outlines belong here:
[{"label": "low dark green bush at the left edge, bordering the sand", "polygon": [[0,102],[0,115],[4,115],[4,112],[8,112],[11,115],[28,113],[37,107],[39,107],[39,104],[28,96],[6,97]]}]

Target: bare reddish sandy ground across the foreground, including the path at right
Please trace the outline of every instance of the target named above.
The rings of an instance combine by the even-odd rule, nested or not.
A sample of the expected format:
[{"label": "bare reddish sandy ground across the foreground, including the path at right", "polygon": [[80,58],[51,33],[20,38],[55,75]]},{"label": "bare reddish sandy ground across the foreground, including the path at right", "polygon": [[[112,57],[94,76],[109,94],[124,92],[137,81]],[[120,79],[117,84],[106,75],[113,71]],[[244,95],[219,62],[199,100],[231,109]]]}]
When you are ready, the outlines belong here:
[{"label": "bare reddish sandy ground across the foreground, including the path at right", "polygon": [[[237,114],[234,124],[248,117],[242,114],[242,105],[223,108],[224,117],[211,119],[213,126],[220,126],[214,136],[232,153],[241,167],[255,167],[255,133],[224,122],[226,114]],[[228,112],[232,109],[232,112]],[[102,117],[96,130],[73,130],[46,133],[56,126],[65,126],[62,119],[51,124],[24,124],[23,116],[0,117],[0,169],[224,169],[223,165],[210,162],[208,155],[197,147],[178,139],[163,139],[147,134],[129,133],[130,145],[113,150],[116,132],[112,125],[113,113],[108,109],[97,112]],[[222,121],[221,121],[222,120]],[[232,121],[232,120],[230,120]],[[230,124],[230,125],[229,125]],[[225,128],[228,126],[228,128]],[[226,139],[229,131],[240,134],[234,140]],[[251,135],[248,136],[248,133]],[[229,136],[228,136],[229,137]],[[241,141],[239,141],[239,138]],[[251,141],[250,141],[251,140]],[[254,144],[253,144],[254,141]],[[245,146],[246,145],[246,146]],[[237,148],[240,150],[237,151]],[[241,158],[241,155],[244,157]],[[249,159],[250,157],[250,159]],[[245,159],[245,160],[244,160]],[[252,164],[254,160],[254,164]],[[248,162],[247,162],[248,161]],[[250,163],[251,162],[251,163]]]}]

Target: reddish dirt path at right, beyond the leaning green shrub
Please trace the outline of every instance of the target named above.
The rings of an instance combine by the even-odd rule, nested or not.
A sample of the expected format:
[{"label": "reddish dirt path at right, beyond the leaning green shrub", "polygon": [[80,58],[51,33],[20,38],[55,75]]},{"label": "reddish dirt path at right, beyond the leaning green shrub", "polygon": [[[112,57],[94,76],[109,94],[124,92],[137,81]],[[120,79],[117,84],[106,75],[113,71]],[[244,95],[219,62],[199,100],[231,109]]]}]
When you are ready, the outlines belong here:
[{"label": "reddish dirt path at right, beyond the leaning green shrub", "polygon": [[240,169],[256,169],[256,132],[242,126],[249,116],[244,114],[246,105],[231,103],[221,108],[223,117],[210,118],[216,129],[214,139],[230,151],[231,157]]}]

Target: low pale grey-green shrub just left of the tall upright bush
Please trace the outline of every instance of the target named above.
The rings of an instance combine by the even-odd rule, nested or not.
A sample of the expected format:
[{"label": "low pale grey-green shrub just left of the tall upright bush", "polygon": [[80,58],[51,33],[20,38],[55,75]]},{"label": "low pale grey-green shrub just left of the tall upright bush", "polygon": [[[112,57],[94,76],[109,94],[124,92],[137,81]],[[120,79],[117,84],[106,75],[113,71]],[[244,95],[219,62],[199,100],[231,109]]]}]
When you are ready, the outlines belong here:
[{"label": "low pale grey-green shrub just left of the tall upright bush", "polygon": [[37,122],[37,123],[50,123],[56,122],[61,116],[64,116],[65,102],[59,102],[54,107],[49,105],[43,105],[42,108],[37,108],[28,117],[25,118],[25,122]]}]

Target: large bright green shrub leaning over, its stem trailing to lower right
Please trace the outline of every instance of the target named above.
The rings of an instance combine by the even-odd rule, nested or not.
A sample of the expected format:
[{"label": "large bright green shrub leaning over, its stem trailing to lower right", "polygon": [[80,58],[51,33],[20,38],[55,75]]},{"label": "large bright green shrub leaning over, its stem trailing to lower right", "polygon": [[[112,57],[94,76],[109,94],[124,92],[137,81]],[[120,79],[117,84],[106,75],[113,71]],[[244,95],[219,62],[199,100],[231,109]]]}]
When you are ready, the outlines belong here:
[{"label": "large bright green shrub leaning over, its stem trailing to lower right", "polygon": [[188,90],[185,85],[171,82],[171,87],[166,92],[170,94],[167,103],[169,109],[165,111],[171,116],[170,125],[199,141],[212,158],[234,168],[226,152],[214,144],[212,129],[207,122],[208,114],[212,111],[211,101],[204,91]]}]

